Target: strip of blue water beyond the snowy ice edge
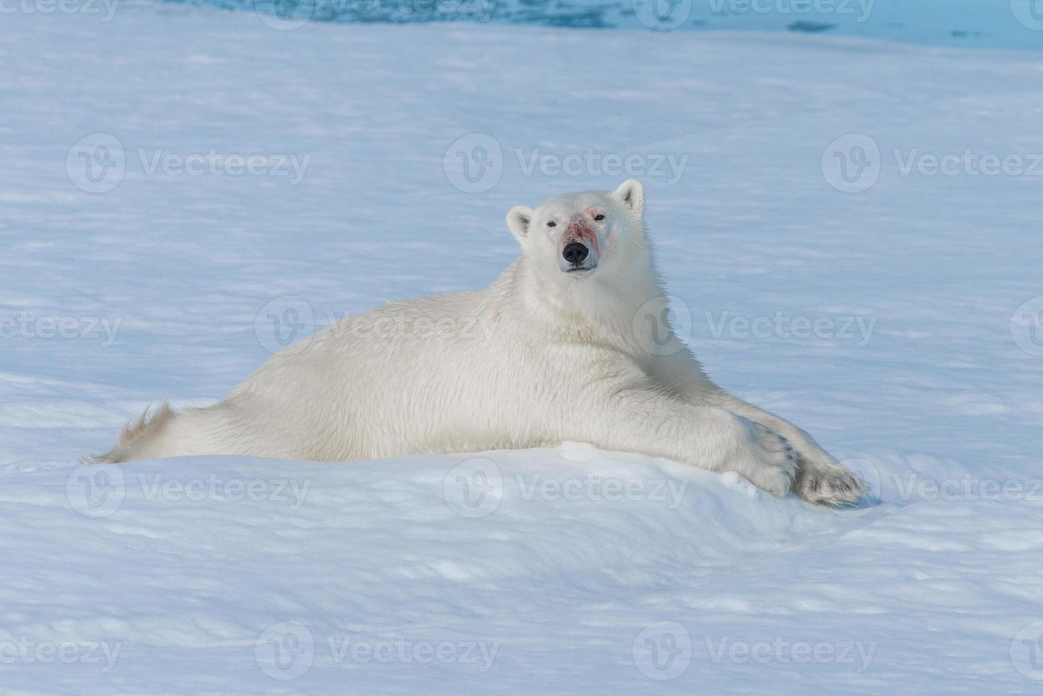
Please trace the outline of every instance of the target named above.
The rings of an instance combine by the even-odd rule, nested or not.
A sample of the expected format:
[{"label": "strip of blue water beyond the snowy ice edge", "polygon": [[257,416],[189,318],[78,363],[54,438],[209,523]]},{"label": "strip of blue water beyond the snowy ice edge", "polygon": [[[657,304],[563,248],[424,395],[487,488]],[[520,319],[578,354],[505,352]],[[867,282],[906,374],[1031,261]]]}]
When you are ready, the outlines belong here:
[{"label": "strip of blue water beyond the snowy ice edge", "polygon": [[167,0],[315,22],[477,22],[580,29],[833,33],[1043,49],[1043,0]]}]

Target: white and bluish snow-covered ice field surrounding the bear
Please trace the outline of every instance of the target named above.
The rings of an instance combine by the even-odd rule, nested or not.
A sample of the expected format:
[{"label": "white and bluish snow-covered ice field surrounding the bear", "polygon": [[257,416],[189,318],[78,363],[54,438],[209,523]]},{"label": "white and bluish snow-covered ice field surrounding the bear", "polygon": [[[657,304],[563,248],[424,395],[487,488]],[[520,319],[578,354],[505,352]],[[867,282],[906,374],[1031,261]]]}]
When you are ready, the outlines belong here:
[{"label": "white and bluish snow-covered ice field surrounding the bear", "polygon": [[[100,19],[0,40],[0,690],[1038,692],[1043,54]],[[77,467],[295,328],[486,284],[610,155],[710,374],[878,500],[578,443]]]}]

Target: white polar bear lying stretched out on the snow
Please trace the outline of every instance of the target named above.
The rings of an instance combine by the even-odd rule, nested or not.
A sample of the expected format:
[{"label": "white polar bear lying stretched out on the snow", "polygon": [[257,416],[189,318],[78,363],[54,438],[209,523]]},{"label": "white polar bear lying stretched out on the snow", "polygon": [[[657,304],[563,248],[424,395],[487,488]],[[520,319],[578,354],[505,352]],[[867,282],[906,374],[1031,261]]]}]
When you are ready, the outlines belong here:
[{"label": "white polar bear lying stretched out on the snow", "polygon": [[513,207],[522,254],[487,289],[332,324],[215,405],[146,412],[98,461],[351,461],[571,440],[734,471],[775,496],[856,501],[853,473],[710,381],[673,332],[644,206],[629,180]]}]

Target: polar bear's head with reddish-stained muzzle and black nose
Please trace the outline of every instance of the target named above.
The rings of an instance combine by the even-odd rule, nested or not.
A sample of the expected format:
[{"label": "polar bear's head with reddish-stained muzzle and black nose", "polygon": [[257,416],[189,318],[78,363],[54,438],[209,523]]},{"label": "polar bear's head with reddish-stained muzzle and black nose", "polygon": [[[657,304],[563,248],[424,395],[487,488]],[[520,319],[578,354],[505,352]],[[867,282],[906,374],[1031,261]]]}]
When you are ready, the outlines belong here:
[{"label": "polar bear's head with reddish-stained muzzle and black nose", "polygon": [[615,191],[556,196],[535,209],[515,205],[507,226],[525,266],[551,287],[618,280],[652,272],[645,237],[645,189],[635,179]]}]

